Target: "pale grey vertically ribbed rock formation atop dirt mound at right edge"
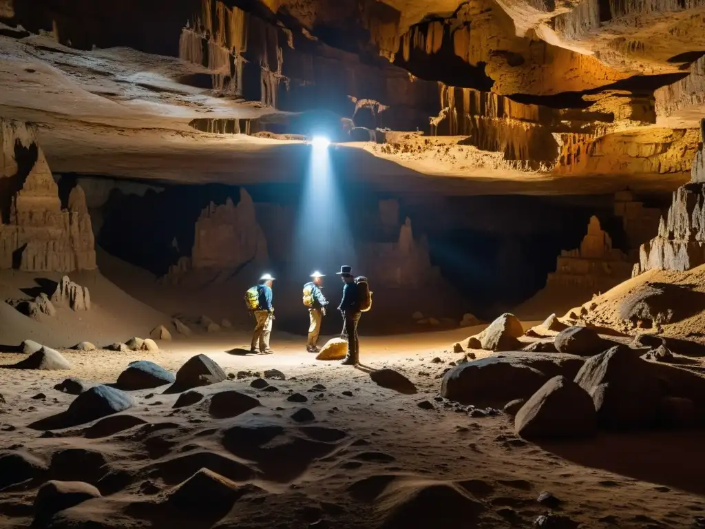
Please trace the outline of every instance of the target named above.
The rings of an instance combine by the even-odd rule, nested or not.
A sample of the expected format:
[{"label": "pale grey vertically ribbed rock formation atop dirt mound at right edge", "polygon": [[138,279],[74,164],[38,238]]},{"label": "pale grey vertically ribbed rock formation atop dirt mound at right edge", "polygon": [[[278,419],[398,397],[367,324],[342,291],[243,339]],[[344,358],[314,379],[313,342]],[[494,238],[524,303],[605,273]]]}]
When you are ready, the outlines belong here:
[{"label": "pale grey vertically ribbed rock formation atop dirt mound at right edge", "polygon": [[[705,119],[701,121],[705,138]],[[690,182],[673,192],[666,219],[661,217],[658,234],[639,248],[633,275],[651,269],[683,272],[705,262],[705,147],[693,162]]]}]

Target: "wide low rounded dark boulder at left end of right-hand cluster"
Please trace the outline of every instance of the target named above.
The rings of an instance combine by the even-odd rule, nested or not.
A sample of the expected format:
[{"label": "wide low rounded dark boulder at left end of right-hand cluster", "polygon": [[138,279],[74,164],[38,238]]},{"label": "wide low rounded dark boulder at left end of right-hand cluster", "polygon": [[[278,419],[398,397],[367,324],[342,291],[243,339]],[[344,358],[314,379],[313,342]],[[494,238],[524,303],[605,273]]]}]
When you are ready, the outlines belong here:
[{"label": "wide low rounded dark boulder at left end of right-hand cluster", "polygon": [[535,367],[490,356],[448,370],[441,396],[465,404],[503,406],[513,399],[528,399],[547,379]]}]

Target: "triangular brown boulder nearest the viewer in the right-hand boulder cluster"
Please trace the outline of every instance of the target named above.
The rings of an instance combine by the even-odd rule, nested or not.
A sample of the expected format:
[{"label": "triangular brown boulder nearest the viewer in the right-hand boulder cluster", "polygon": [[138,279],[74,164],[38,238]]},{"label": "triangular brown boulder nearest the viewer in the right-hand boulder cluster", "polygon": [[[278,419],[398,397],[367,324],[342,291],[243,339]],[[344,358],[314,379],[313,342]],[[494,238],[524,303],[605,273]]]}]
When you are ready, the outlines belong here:
[{"label": "triangular brown boulder nearest the viewer in the right-hand boulder cluster", "polygon": [[515,432],[526,439],[587,437],[596,428],[595,406],[589,394],[562,375],[541,386],[514,420]]}]

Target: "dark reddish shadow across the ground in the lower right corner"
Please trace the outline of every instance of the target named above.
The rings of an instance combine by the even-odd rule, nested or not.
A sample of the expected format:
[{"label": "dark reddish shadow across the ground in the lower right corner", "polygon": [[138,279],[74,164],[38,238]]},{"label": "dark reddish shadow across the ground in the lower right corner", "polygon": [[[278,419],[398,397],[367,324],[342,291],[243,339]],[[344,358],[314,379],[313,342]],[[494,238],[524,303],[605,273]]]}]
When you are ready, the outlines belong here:
[{"label": "dark reddish shadow across the ground in the lower right corner", "polygon": [[[580,466],[705,494],[705,430],[599,434],[581,442],[541,442],[542,449]],[[678,449],[674,450],[673,447]],[[618,485],[604,482],[606,487]]]}]

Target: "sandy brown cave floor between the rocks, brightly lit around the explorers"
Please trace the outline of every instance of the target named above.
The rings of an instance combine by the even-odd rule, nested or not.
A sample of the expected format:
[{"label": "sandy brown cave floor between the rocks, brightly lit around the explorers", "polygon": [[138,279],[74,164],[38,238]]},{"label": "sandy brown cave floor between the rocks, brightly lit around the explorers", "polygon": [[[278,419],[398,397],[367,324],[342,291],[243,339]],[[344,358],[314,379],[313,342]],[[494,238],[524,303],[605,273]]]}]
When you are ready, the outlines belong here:
[{"label": "sandy brown cave floor between the rocks, brightly lit around the explorers", "polygon": [[[101,488],[110,493],[63,514],[66,520],[99,525],[56,527],[376,527],[401,500],[365,499],[374,496],[380,484],[394,480],[402,491],[400,497],[426,487],[429,480],[470,480],[465,483],[482,509],[477,525],[469,515],[467,527],[528,527],[548,511],[536,501],[543,491],[561,499],[557,512],[579,521],[581,528],[685,528],[705,515],[701,479],[705,463],[700,457],[705,434],[601,434],[591,442],[541,447],[517,438],[506,415],[474,418],[465,406],[434,401],[441,384],[436,376],[460,356],[450,344],[472,332],[477,329],[362,339],[363,365],[402,372],[417,386],[413,395],[377,386],[367,370],[316,361],[302,351],[300,338],[276,334],[277,353],[271,356],[226,353],[247,343],[247,336],[236,333],[161,342],[157,353],[62,351],[74,365],[70,372],[0,372],[6,399],[0,407],[0,450],[25,451],[44,461],[64,448],[104,455],[113,479],[104,478]],[[278,388],[276,392],[250,387],[252,376],[199,389],[206,396],[238,389],[262,404],[231,419],[214,420],[202,403],[175,411],[172,405],[178,394],[162,394],[161,387],[133,391],[138,406],[121,415],[131,415],[140,424],[121,432],[89,435],[88,424],[47,437],[27,427],[66,409],[73,397],[53,386],[67,376],[89,384],[113,382],[130,361],[138,359],[152,360],[174,372],[198,353],[208,355],[226,373],[277,368],[287,379],[269,381]],[[431,362],[435,357],[442,362]],[[17,353],[0,354],[1,364],[17,359]],[[313,389],[314,384],[325,389]],[[40,392],[46,399],[32,399]],[[316,417],[310,423],[317,427],[315,432],[290,419],[302,406],[287,401],[294,392],[307,397],[303,406]],[[434,410],[417,406],[424,400],[433,402]],[[261,473],[247,481],[261,490],[245,494],[228,513],[204,506],[197,518],[183,513],[174,517],[160,508],[173,488],[199,468],[200,458],[205,457],[202,452],[233,458],[223,449],[219,430],[252,421],[285,425],[287,432],[271,449],[271,458],[254,462],[237,458],[259,468]],[[313,449],[308,444],[316,437],[326,442],[314,440]],[[678,451],[670,446],[678,446]],[[172,460],[177,461],[168,463]],[[82,473],[92,472],[105,473],[105,468],[87,465],[75,470],[73,478],[86,479]],[[30,524],[36,488],[36,483],[28,483],[0,492],[0,527]],[[448,509],[458,508],[442,495],[434,505],[440,524]],[[330,525],[310,525],[319,520]]]}]

